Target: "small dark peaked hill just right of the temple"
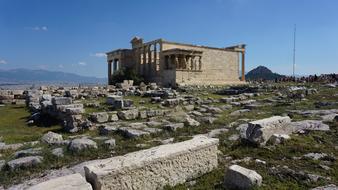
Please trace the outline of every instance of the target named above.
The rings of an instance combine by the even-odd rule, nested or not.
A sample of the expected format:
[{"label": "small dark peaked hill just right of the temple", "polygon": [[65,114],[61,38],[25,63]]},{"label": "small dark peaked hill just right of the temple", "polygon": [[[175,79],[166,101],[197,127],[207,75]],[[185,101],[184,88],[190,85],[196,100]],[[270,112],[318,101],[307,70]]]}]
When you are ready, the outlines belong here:
[{"label": "small dark peaked hill just right of the temple", "polygon": [[278,78],[285,77],[284,75],[280,75],[278,73],[273,73],[270,69],[264,67],[264,66],[258,66],[255,69],[252,69],[249,71],[245,78],[247,80],[274,80]]}]

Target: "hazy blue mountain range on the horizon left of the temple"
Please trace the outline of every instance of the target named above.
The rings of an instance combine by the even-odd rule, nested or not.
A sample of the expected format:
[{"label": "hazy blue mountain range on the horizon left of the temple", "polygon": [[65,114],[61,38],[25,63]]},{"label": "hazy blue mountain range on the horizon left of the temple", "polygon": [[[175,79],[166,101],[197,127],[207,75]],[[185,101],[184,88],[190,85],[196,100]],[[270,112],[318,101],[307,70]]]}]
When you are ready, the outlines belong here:
[{"label": "hazy blue mountain range on the horizon left of the temple", "polygon": [[0,70],[1,84],[21,84],[21,83],[97,83],[104,84],[105,78],[87,77],[73,73],[47,70],[30,70],[30,69],[12,69]]}]

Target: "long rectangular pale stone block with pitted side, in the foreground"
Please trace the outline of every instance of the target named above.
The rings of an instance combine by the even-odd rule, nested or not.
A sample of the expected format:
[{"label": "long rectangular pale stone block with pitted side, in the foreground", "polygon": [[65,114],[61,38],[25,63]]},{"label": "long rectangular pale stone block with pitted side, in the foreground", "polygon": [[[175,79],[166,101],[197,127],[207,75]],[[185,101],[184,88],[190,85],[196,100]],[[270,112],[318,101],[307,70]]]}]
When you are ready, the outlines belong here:
[{"label": "long rectangular pale stone block with pitted side, in the foreground", "polygon": [[86,165],[86,179],[95,190],[161,189],[197,178],[215,169],[218,139],[195,136]]}]

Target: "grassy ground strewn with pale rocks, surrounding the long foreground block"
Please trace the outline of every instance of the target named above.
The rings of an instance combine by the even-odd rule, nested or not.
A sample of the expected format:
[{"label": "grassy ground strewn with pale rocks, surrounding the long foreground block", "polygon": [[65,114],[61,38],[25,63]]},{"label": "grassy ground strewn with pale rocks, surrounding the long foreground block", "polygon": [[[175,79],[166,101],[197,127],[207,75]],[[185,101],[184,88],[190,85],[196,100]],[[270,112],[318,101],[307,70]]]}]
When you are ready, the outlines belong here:
[{"label": "grassy ground strewn with pale rocks, surrounding the long foreground block", "polygon": [[198,134],[219,139],[218,167],[164,189],[338,184],[336,84],[173,90],[127,81],[116,87],[2,90],[0,100],[0,189],[84,176],[83,166],[96,159]]}]

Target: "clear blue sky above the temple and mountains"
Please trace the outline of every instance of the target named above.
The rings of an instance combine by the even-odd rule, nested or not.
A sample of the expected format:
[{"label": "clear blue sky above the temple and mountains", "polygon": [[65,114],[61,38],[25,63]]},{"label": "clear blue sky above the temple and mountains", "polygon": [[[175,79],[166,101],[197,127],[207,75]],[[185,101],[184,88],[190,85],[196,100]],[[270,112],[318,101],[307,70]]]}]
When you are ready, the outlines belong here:
[{"label": "clear blue sky above the temple and mountains", "polygon": [[0,69],[106,77],[104,52],[133,36],[226,47],[247,44],[247,71],[338,73],[336,0],[0,0]]}]

